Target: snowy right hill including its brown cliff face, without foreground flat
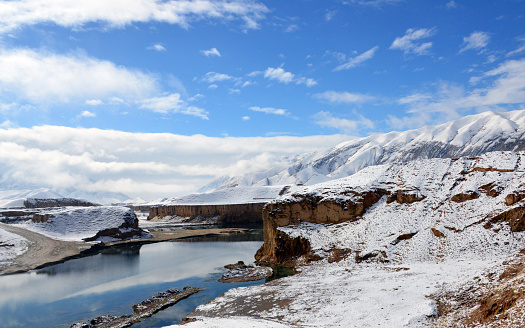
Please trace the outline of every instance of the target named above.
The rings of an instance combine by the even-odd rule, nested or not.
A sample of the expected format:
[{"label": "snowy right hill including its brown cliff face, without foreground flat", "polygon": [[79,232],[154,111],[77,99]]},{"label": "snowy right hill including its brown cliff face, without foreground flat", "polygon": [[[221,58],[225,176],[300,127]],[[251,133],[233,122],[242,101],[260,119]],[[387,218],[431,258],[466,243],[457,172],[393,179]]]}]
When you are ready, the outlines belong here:
[{"label": "snowy right hill including its brown cliff face, without foreground flat", "polygon": [[524,181],[525,153],[495,152],[295,187],[264,207],[256,259],[287,266],[339,253],[356,262],[442,259],[469,251],[463,243],[511,251],[522,238],[515,233],[525,231]]}]

